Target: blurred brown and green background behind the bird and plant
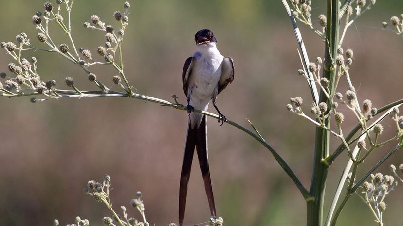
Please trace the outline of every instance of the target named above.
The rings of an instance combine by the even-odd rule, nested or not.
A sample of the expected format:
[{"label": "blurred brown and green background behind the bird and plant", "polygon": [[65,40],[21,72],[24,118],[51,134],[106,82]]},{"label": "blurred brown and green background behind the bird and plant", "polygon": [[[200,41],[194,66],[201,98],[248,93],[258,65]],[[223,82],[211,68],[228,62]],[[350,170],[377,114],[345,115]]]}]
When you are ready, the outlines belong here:
[{"label": "blurred brown and green background behind the bird and plant", "polygon": [[[55,1],[52,1],[55,4]],[[307,83],[297,75],[301,68],[291,23],[279,0],[153,0],[129,1],[129,27],[123,44],[125,72],[139,93],[184,103],[181,73],[185,59],[195,50],[194,33],[211,29],[224,56],[235,60],[235,80],[218,98],[220,110],[231,120],[249,128],[248,117],[266,141],[289,162],[309,187],[314,146],[314,126],[288,113],[290,97],[304,97],[309,112]],[[26,32],[37,39],[31,22],[43,0],[2,1],[1,41],[15,41]],[[96,54],[104,33],[85,29],[83,22],[97,14],[117,27],[113,12],[123,10],[124,0],[76,0],[73,8],[73,38],[78,47]],[[312,2],[312,20],[325,11],[325,1]],[[403,1],[379,0],[361,16],[346,36],[343,48],[353,48],[350,75],[358,98],[373,101],[374,107],[402,98],[403,39],[381,29],[382,21],[403,13]],[[66,15],[65,15],[65,18]],[[301,24],[300,24],[301,25]],[[318,25],[316,23],[316,25]],[[304,26],[301,32],[311,60],[323,56],[324,44]],[[70,45],[52,25],[56,43]],[[79,89],[96,89],[77,66],[56,54],[25,52],[36,56],[43,80],[72,76]],[[101,58],[99,58],[101,60]],[[0,71],[7,71],[11,58],[0,54]],[[112,89],[110,66],[91,68]],[[4,82],[4,81],[2,81]],[[340,84],[344,93],[347,84]],[[75,216],[102,225],[109,211],[82,193],[87,181],[112,178],[114,207],[125,205],[143,192],[147,220],[156,226],[177,221],[179,177],[183,158],[187,113],[131,98],[81,98],[31,104],[29,98],[0,98],[0,225],[61,225]],[[401,109],[402,111],[403,109]],[[215,113],[214,108],[210,111]],[[347,110],[345,133],[356,125]],[[305,202],[293,182],[268,150],[251,137],[227,124],[220,127],[209,119],[210,169],[218,215],[227,226],[299,226],[306,222]],[[385,120],[389,138],[395,131]],[[339,141],[333,140],[330,150]],[[377,149],[359,169],[366,172],[391,146]],[[343,153],[330,167],[325,212],[348,158]],[[389,164],[399,165],[396,153],[379,168],[390,174]],[[209,219],[209,209],[197,161],[189,183],[186,225]],[[344,192],[343,192],[344,194]],[[386,198],[385,225],[403,225],[403,186]],[[201,224],[203,225],[203,224]],[[366,205],[354,196],[343,210],[338,225],[376,225]]]}]

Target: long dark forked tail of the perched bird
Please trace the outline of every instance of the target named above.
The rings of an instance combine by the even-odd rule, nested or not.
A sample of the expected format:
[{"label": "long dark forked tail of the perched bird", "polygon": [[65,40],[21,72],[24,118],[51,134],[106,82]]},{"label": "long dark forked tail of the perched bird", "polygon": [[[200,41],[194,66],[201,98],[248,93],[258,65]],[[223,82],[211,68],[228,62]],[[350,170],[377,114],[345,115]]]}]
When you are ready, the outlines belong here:
[{"label": "long dark forked tail of the perched bird", "polygon": [[211,216],[216,217],[216,207],[214,204],[213,188],[211,187],[210,169],[208,166],[207,154],[207,122],[206,116],[203,116],[199,128],[191,128],[188,123],[185,150],[183,156],[183,165],[181,172],[181,182],[179,185],[179,225],[183,225],[184,213],[186,208],[187,183],[190,178],[190,170],[192,168],[193,153],[197,149],[199,157],[200,170],[204,180],[204,188],[206,190],[207,199],[210,207]]}]

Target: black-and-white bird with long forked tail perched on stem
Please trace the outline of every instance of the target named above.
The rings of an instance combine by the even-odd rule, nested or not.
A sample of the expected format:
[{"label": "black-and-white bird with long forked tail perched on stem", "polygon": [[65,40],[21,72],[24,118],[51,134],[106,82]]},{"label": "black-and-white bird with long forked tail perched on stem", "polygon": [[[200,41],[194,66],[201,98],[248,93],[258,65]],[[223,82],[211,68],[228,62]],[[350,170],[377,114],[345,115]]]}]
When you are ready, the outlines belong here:
[{"label": "black-and-white bird with long forked tail perched on stem", "polygon": [[204,180],[210,213],[216,217],[213,188],[207,153],[207,118],[194,109],[207,111],[210,100],[219,113],[220,126],[227,118],[217,107],[217,95],[234,80],[234,60],[224,57],[217,49],[217,39],[209,29],[202,29],[195,34],[196,51],[187,58],[183,66],[182,83],[187,100],[189,114],[183,164],[179,185],[179,225],[183,225],[186,208],[187,184],[192,168],[193,154],[196,147],[200,169]]}]

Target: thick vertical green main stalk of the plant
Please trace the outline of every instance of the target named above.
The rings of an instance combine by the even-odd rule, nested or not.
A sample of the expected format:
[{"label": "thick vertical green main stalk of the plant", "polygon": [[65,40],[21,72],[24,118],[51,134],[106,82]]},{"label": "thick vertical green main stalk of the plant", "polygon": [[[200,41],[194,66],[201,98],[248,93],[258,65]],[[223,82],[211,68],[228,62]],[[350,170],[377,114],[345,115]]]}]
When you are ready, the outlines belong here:
[{"label": "thick vertical green main stalk of the plant", "polygon": [[[327,0],[323,76],[330,81],[330,93],[333,93],[336,78],[334,59],[337,56],[337,48],[339,46],[339,7],[339,0]],[[330,108],[330,100],[326,97],[323,90],[320,92],[319,102],[326,102]],[[330,118],[327,118],[324,124],[327,128],[330,128]],[[314,200],[307,202],[307,226],[322,226],[323,224],[323,201],[329,168],[329,165],[323,160],[329,156],[329,135],[328,130],[316,128],[313,173],[310,188],[310,194],[314,197]]]}]

